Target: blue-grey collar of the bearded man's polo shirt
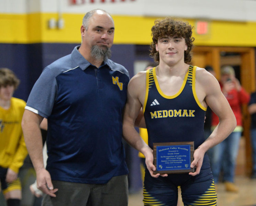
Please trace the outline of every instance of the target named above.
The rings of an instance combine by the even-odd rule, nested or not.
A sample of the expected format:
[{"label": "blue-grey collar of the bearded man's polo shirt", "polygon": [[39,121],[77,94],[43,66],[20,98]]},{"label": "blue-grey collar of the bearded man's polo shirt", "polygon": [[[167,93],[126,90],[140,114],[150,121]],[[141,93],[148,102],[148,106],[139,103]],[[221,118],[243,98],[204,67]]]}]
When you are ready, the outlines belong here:
[{"label": "blue-grey collar of the bearded man's polo shirt", "polygon": [[[86,70],[90,65],[92,65],[89,61],[87,61],[78,51],[80,46],[75,46],[75,48],[73,49],[73,51],[71,52],[71,58],[78,64],[78,66],[82,69],[82,70]],[[107,65],[110,69],[112,69],[110,67],[110,60],[107,59],[103,62],[103,64],[100,66],[104,66]]]}]

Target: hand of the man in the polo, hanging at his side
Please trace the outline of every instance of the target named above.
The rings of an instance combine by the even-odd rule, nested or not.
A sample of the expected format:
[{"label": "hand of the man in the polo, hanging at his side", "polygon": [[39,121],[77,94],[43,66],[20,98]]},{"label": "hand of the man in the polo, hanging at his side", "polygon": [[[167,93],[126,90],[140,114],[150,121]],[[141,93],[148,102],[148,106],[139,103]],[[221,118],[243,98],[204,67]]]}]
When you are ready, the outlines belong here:
[{"label": "hand of the man in the polo, hanging at his side", "polygon": [[43,193],[50,195],[51,197],[56,197],[56,194],[54,193],[57,192],[58,189],[54,189],[51,175],[46,169],[42,168],[36,171],[36,184],[37,188]]}]

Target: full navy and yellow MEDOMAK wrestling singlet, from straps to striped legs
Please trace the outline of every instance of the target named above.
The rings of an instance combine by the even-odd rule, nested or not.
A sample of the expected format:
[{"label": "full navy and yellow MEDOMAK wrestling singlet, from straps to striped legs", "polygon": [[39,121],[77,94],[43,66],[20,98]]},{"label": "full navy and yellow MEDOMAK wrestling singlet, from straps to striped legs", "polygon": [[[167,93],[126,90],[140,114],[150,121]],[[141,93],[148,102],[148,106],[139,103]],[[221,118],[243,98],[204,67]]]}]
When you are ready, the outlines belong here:
[{"label": "full navy and yellow MEDOMAK wrestling singlet, from straps to striped legs", "polygon": [[[197,149],[205,140],[203,126],[206,108],[197,98],[196,68],[189,66],[180,90],[172,96],[161,91],[156,68],[147,70],[143,112],[151,148],[154,142],[194,141],[194,148]],[[184,206],[216,206],[217,195],[207,154],[196,176],[183,173],[153,178],[146,169],[144,205],[177,206],[178,186]]]}]

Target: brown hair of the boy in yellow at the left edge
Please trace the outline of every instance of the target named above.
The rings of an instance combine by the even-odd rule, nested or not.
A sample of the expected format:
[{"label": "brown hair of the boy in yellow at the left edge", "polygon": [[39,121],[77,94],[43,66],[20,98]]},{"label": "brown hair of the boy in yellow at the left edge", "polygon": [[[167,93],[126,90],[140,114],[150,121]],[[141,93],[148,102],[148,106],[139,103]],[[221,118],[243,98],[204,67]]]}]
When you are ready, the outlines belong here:
[{"label": "brown hair of the boy in yellow at the left edge", "polygon": [[13,85],[14,89],[17,89],[19,84],[20,80],[16,77],[12,70],[8,68],[0,68],[0,87]]}]

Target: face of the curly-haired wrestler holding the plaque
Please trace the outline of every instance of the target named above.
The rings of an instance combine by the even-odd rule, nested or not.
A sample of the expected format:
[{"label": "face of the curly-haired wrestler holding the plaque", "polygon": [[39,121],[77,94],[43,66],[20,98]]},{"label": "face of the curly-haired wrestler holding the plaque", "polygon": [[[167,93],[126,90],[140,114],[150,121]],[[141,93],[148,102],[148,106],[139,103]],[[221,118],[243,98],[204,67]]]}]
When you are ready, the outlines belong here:
[{"label": "face of the curly-haired wrestler holding the plaque", "polygon": [[160,62],[164,61],[168,65],[184,62],[184,51],[186,51],[187,48],[185,39],[178,36],[159,38],[156,44]]}]

